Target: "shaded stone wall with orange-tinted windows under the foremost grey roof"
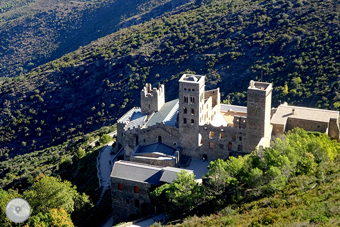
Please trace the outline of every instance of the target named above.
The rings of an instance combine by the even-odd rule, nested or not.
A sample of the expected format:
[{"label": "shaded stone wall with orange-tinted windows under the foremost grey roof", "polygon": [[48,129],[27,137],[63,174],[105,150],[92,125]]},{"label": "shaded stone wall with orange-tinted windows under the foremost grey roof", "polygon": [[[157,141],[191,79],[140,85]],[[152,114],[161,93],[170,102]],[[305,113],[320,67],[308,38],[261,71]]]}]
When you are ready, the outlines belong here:
[{"label": "shaded stone wall with orange-tinted windows under the foremost grey roof", "polygon": [[[118,184],[122,184],[120,190]],[[138,192],[135,192],[138,187]],[[111,177],[112,214],[114,224],[132,221],[154,211],[149,198],[151,185],[138,181]]]}]

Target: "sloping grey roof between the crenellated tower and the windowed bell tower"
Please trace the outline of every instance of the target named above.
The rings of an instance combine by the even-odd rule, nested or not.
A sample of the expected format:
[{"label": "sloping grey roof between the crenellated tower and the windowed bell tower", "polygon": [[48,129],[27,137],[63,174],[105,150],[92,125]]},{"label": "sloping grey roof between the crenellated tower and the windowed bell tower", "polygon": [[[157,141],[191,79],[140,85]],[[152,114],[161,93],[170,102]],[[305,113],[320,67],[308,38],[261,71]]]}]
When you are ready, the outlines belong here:
[{"label": "sloping grey roof between the crenellated tower and the windowed bell tower", "polygon": [[162,108],[155,112],[154,115],[147,122],[147,126],[155,125],[156,123],[164,123],[169,126],[176,125],[178,112],[178,99],[166,102]]}]

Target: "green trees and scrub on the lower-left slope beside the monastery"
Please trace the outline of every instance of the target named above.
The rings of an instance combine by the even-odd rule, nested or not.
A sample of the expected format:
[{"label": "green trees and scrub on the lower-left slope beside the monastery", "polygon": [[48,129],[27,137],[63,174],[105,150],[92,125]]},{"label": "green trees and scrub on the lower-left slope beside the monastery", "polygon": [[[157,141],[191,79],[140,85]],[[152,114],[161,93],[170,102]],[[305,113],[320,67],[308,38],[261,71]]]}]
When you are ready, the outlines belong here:
[{"label": "green trees and scrub on the lower-left slope beside the monastery", "polygon": [[[111,196],[107,191],[101,206],[93,206],[101,192],[96,156],[98,147],[108,142],[106,134],[114,130],[115,126],[103,127],[78,140],[2,162],[0,186],[6,191],[0,189],[1,226],[17,226],[6,218],[5,206],[11,198],[21,196],[34,210],[23,225],[54,227],[55,221],[65,224],[58,226],[73,226],[71,222],[76,226],[100,226],[111,213]],[[99,138],[96,147],[89,146],[95,138]]]}]

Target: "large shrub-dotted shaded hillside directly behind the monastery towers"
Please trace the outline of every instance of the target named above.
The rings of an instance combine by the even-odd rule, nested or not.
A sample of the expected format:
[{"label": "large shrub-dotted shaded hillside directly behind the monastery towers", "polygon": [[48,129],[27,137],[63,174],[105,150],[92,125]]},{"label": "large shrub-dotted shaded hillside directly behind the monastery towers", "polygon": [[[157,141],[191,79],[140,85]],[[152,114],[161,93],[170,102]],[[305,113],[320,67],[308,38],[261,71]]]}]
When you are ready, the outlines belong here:
[{"label": "large shrub-dotted shaded hillside directly behind the monastery towers", "polygon": [[[119,30],[15,79],[3,79],[2,155],[57,145],[139,106],[145,82],[177,98],[184,73],[245,104],[251,79],[278,100],[338,109],[338,1],[204,1]],[[5,156],[3,156],[5,157]]]}]

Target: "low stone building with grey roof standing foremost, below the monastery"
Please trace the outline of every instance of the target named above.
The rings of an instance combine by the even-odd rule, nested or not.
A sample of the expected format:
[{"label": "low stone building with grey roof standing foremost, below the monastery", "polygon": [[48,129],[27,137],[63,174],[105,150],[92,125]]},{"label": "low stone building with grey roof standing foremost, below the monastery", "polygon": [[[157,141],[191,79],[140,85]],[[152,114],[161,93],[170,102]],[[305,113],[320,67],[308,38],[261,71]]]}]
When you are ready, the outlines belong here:
[{"label": "low stone building with grey roof standing foremost, below the monastery", "polygon": [[154,213],[155,208],[149,198],[150,188],[172,183],[181,170],[126,161],[115,162],[111,172],[114,223],[131,221]]}]

